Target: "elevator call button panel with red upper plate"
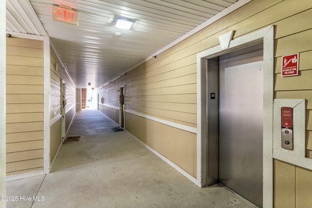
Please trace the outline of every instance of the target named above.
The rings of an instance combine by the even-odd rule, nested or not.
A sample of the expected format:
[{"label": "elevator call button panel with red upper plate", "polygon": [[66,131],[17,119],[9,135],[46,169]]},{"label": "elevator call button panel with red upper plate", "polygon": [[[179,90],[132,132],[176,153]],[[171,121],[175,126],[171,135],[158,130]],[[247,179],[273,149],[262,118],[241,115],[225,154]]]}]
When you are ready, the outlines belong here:
[{"label": "elevator call button panel with red upper plate", "polygon": [[293,150],[292,108],[281,108],[282,148]]}]

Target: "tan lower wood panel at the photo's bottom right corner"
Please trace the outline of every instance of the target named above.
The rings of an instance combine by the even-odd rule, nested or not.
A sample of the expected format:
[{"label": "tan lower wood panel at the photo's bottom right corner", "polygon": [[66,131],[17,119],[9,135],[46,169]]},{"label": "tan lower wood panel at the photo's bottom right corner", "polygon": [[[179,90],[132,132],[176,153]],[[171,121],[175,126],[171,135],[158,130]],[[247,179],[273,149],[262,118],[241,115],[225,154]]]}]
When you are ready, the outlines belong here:
[{"label": "tan lower wood panel at the photo's bottom right corner", "polygon": [[312,207],[312,171],[296,167],[296,208]]}]

